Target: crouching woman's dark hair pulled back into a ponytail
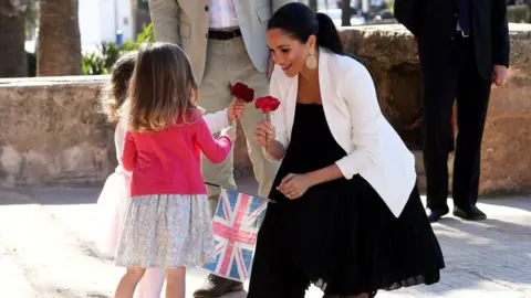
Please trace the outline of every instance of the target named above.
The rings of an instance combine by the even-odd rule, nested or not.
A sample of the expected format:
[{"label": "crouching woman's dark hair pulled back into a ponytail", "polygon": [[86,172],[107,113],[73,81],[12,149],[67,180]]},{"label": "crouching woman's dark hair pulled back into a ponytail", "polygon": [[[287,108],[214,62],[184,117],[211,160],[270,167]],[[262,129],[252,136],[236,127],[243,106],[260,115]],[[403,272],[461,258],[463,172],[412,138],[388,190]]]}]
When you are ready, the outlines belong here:
[{"label": "crouching woman's dark hair pulled back into a ponytail", "polygon": [[343,55],[343,44],[334,22],[329,15],[313,12],[306,4],[292,2],[281,7],[268,22],[268,30],[280,29],[302,43],[310,35],[317,38],[317,45]]}]

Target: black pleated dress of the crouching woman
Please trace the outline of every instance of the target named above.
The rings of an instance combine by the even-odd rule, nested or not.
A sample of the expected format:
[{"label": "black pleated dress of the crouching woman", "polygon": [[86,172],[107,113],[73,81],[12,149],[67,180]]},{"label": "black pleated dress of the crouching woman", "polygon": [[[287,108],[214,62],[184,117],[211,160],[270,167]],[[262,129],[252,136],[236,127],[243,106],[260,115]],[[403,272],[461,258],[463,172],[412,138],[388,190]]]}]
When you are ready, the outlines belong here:
[{"label": "black pleated dress of the crouching woman", "polygon": [[442,253],[418,190],[396,219],[362,177],[310,188],[289,200],[275,190],[288,173],[327,167],[346,152],[322,105],[298,104],[291,142],[259,232],[248,298],[299,298],[311,283],[327,295],[375,295],[439,280]]}]

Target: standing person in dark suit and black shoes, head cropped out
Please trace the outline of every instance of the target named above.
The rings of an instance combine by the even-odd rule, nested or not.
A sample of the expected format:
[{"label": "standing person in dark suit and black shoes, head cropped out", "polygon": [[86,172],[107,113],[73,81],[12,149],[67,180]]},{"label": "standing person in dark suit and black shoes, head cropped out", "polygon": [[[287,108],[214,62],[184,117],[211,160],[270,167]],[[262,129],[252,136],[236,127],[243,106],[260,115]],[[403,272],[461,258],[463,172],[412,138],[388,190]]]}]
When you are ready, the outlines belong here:
[{"label": "standing person in dark suit and black shoes, head cropped out", "polygon": [[423,150],[428,219],[449,212],[448,152],[457,99],[454,215],[485,220],[477,206],[481,139],[491,84],[509,67],[506,0],[396,0],[395,18],[417,39],[424,79]]}]

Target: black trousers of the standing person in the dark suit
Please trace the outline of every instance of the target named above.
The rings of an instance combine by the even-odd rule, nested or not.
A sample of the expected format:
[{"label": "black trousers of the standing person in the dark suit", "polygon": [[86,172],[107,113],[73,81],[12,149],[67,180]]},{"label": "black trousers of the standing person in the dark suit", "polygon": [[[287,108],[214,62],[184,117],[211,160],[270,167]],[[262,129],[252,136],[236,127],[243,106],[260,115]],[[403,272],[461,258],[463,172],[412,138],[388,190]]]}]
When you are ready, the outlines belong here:
[{"label": "black trousers of the standing person in the dark suit", "polygon": [[[423,151],[427,200],[431,210],[447,210],[448,153],[451,111],[457,100],[452,196],[456,206],[470,209],[478,200],[481,139],[491,79],[476,64],[472,38],[454,38],[450,54],[437,61],[419,46],[424,78]],[[428,54],[428,53],[426,53]]]}]

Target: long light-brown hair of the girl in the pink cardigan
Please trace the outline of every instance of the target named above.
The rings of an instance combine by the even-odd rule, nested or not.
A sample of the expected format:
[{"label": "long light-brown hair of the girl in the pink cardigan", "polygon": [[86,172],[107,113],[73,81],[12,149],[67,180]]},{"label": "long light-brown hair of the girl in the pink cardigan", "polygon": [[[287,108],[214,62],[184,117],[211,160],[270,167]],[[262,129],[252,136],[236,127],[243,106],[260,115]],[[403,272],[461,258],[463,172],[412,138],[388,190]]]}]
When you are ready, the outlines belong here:
[{"label": "long light-brown hair of the girl in the pink cardigan", "polygon": [[[142,49],[129,84],[129,129],[160,131],[197,108],[197,82],[190,61],[175,44],[156,42]],[[191,114],[194,115],[194,114]]]}]

